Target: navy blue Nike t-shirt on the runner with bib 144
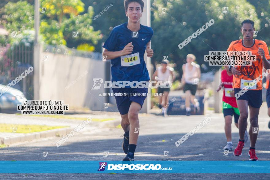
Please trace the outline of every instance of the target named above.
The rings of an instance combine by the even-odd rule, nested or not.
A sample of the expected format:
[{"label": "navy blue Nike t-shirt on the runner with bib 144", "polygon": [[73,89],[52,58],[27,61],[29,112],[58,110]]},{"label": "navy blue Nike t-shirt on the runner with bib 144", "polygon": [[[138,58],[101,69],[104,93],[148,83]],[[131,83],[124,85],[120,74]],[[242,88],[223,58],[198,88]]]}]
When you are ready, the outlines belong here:
[{"label": "navy blue Nike t-shirt on the runner with bib 144", "polygon": [[148,26],[141,25],[138,31],[138,37],[132,37],[132,31],[127,28],[127,22],[114,27],[109,38],[103,45],[108,51],[121,51],[124,47],[132,42],[133,51],[131,54],[139,53],[140,64],[134,66],[122,66],[121,58],[111,59],[112,81],[149,81],[149,73],[144,61],[146,44],[153,36],[153,29]]}]

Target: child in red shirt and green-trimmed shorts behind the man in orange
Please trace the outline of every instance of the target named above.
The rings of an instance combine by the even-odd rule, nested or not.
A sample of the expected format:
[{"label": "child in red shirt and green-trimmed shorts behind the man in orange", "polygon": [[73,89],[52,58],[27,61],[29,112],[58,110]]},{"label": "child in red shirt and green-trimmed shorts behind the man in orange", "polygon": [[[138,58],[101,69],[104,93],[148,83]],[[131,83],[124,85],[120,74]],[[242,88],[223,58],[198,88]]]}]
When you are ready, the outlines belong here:
[{"label": "child in red shirt and green-trimmed shorts behind the man in orange", "polygon": [[[240,115],[239,109],[237,108],[236,99],[234,97],[233,89],[233,73],[229,71],[228,66],[224,66],[225,69],[221,71],[221,82],[218,86],[217,92],[224,87],[222,103],[223,103],[223,114],[225,119],[225,135],[227,138],[227,145],[223,150],[232,150],[232,119],[234,116],[234,124],[238,128],[238,118]],[[245,132],[245,142],[248,140],[248,132]]]}]

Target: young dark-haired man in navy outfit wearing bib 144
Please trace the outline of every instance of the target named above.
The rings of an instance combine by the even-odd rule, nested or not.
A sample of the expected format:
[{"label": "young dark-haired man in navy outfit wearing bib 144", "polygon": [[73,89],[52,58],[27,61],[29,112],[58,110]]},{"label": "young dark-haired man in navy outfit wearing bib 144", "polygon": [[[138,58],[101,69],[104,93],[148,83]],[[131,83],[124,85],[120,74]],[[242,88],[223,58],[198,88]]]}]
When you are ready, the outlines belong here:
[{"label": "young dark-haired man in navy outfit wearing bib 144", "polygon": [[[104,44],[103,56],[111,59],[112,81],[149,81],[149,74],[144,61],[145,50],[148,57],[153,56],[150,40],[153,30],[140,24],[144,2],[125,0],[125,14],[128,22],[114,27]],[[121,115],[121,126],[125,132],[123,151],[127,154],[124,161],[133,161],[139,135],[138,114],[148,88],[113,88],[114,93],[141,93],[142,96],[115,96]],[[130,130],[130,131],[129,131]]]}]

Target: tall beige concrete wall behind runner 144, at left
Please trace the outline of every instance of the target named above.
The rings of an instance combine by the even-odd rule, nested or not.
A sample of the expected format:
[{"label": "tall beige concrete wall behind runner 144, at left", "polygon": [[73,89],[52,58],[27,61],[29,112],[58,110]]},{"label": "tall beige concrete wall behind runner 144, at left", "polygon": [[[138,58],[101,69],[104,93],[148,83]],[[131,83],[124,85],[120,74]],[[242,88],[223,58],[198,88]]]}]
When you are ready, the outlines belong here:
[{"label": "tall beige concrete wall behind runner 144, at left", "polygon": [[72,107],[102,110],[104,89],[91,90],[93,78],[104,78],[105,63],[101,60],[41,52],[47,61],[40,62],[40,100],[64,100]]}]

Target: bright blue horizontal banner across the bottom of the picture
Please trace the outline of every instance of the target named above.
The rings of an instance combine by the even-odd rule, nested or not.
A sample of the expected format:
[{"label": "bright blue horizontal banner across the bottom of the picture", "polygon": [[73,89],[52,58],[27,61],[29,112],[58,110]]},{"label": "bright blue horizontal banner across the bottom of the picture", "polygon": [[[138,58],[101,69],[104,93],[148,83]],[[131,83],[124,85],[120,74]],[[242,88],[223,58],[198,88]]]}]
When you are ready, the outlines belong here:
[{"label": "bright blue horizontal banner across the bottom of the picture", "polygon": [[0,173],[270,173],[270,161],[0,161]]}]

